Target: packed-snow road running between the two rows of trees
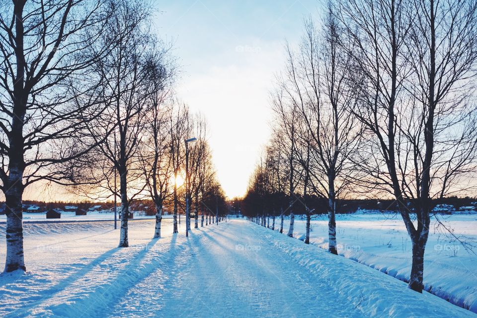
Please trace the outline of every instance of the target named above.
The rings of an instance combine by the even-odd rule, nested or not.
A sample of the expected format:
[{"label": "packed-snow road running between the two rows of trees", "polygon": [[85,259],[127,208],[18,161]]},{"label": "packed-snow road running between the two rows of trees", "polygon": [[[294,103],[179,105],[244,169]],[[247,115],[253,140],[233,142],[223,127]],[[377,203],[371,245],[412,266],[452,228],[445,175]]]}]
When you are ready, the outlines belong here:
[{"label": "packed-snow road running between the two rows of trees", "polygon": [[[176,280],[154,301],[138,304],[138,317],[181,313],[184,317],[361,317],[345,299],[310,277],[242,222],[200,231],[177,258]],[[189,252],[190,251],[190,252]],[[160,271],[148,279],[162,286]],[[157,291],[139,285],[115,307],[112,317],[130,315],[126,304]],[[320,306],[310,304],[320,303]]]}]

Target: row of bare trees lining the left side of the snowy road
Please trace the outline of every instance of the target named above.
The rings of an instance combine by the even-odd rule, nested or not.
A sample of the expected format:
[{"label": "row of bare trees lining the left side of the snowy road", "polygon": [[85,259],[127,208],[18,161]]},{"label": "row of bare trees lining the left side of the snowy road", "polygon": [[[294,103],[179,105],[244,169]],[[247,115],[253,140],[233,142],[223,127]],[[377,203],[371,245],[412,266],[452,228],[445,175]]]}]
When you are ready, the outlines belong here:
[{"label": "row of bare trees lining the left side of the snowy road", "polygon": [[[0,190],[5,196],[5,271],[26,270],[22,195],[35,182],[120,203],[119,246],[128,246],[134,200],[162,211],[184,196],[194,227],[219,220],[225,195],[207,123],[174,96],[171,45],[150,30],[142,0],[2,1],[0,10]],[[189,178],[185,179],[185,140]],[[187,191],[186,191],[187,189]],[[212,218],[214,216],[214,218]],[[153,234],[153,229],[151,229]]]}]

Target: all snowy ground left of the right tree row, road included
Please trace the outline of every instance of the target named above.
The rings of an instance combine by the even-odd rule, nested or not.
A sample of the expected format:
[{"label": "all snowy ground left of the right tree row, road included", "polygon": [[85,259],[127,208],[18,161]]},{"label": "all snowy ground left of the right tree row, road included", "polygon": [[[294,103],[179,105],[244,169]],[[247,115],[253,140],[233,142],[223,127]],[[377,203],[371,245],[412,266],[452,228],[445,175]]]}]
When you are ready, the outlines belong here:
[{"label": "all snowy ground left of the right tree row, road included", "polygon": [[189,239],[171,234],[171,220],[162,239],[153,232],[153,221],[133,221],[131,246],[117,248],[107,222],[25,224],[28,272],[0,276],[0,317],[475,317],[244,220]]}]

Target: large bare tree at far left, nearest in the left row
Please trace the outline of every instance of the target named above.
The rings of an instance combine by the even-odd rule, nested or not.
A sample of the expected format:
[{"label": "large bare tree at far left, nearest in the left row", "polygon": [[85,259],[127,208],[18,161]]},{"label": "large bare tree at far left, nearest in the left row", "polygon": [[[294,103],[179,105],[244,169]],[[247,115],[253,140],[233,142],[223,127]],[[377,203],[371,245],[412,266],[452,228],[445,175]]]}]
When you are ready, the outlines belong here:
[{"label": "large bare tree at far left, nearest in the left row", "polygon": [[24,189],[40,180],[75,181],[59,165],[96,145],[83,130],[101,112],[97,82],[86,70],[110,49],[91,50],[110,6],[97,0],[14,0],[0,7],[0,188],[10,272],[26,270]]}]

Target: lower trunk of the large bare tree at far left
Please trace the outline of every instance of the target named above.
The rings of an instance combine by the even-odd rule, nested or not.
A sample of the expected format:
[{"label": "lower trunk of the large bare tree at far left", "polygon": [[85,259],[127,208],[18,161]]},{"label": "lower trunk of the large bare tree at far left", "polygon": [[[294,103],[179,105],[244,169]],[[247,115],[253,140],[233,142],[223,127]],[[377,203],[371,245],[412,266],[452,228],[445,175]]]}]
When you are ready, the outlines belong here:
[{"label": "lower trunk of the large bare tree at far left", "polygon": [[22,175],[22,171],[14,173],[14,170],[10,170],[10,173],[8,175],[9,182],[10,184],[12,184],[12,186],[10,186],[10,188],[5,193],[5,272],[12,272],[17,269],[26,271],[25,260],[23,256],[23,216],[21,209],[21,197],[23,194],[23,184],[21,182]]}]

